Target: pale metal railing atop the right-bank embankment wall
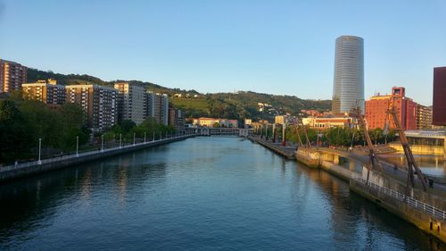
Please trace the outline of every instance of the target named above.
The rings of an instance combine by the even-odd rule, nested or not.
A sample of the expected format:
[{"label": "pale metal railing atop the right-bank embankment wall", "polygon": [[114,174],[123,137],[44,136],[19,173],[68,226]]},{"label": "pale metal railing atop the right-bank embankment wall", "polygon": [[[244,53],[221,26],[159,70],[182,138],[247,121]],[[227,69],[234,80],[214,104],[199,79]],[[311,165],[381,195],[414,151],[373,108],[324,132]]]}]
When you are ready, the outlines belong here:
[{"label": "pale metal railing atop the right-bank embankment wall", "polygon": [[367,182],[366,180],[363,180],[362,177],[359,176],[359,174],[356,173],[353,174],[353,176],[351,177],[351,181],[355,182],[356,184],[359,184],[359,186],[361,187],[368,188],[378,193],[384,194],[387,197],[392,197],[394,199],[397,199],[409,205],[410,207],[417,209],[418,211],[433,216],[434,219],[439,219],[443,221],[446,220],[446,211],[436,208],[433,205],[425,204],[422,201],[419,201],[413,197],[408,197],[395,190],[384,188],[372,182]]}]

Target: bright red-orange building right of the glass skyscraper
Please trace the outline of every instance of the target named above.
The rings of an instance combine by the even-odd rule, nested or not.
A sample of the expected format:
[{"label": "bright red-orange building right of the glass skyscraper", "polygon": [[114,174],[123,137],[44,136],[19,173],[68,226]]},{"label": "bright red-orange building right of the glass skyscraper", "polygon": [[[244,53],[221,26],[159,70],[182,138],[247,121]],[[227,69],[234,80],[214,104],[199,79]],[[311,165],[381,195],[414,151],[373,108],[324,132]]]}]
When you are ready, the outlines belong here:
[{"label": "bright red-orange building right of the glass skyscraper", "polygon": [[[391,95],[372,96],[366,101],[366,120],[369,129],[384,129],[387,109],[389,109],[390,99],[393,97],[393,105],[401,122],[401,128],[405,130],[417,129],[417,103],[406,96],[405,88],[392,88]],[[393,121],[391,128],[395,128]]]}]

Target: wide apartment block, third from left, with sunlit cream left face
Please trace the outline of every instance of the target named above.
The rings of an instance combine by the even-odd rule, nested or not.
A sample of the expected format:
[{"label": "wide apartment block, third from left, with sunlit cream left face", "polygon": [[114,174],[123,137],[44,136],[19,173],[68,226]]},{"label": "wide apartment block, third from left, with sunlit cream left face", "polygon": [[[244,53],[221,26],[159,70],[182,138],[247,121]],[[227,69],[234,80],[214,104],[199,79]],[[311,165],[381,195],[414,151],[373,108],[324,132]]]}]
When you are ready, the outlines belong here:
[{"label": "wide apartment block, third from left, with sunlit cream left face", "polygon": [[81,105],[86,113],[87,127],[101,131],[116,124],[118,91],[95,85],[66,86],[67,103]]}]

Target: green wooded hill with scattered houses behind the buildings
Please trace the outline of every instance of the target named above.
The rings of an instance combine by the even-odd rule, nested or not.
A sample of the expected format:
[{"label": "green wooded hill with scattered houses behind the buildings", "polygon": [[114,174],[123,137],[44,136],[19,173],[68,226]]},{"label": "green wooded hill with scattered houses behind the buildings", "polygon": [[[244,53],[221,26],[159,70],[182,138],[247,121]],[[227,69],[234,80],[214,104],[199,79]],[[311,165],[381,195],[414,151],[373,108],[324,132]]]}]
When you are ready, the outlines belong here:
[{"label": "green wooded hill with scattered houses behind the buildings", "polygon": [[[165,88],[160,85],[140,80],[114,80],[104,81],[103,79],[86,74],[61,74],[53,71],[39,71],[29,69],[29,82],[38,79],[56,79],[62,85],[78,84],[89,82],[92,84],[113,86],[115,82],[126,81],[131,85],[142,86],[154,92],[167,93],[170,96],[171,104],[186,112],[187,117],[220,117],[227,119],[244,118],[253,120],[267,119],[273,120],[277,114],[291,113],[297,115],[301,109],[315,109],[327,111],[331,108],[331,100],[305,100],[297,96],[278,96],[252,91],[241,91],[237,93],[213,93],[202,95],[199,92],[179,88]],[[175,97],[175,94],[191,97]],[[192,97],[198,95],[197,97]]]}]

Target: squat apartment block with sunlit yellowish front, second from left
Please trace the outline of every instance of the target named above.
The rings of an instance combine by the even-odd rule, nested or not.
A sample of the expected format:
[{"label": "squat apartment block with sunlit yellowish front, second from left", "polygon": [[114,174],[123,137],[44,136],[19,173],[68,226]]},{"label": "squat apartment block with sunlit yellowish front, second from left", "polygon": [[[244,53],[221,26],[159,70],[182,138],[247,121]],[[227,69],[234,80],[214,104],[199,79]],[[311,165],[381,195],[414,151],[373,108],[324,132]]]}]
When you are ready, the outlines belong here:
[{"label": "squat apartment block with sunlit yellowish front, second from left", "polygon": [[48,105],[62,105],[65,103],[65,86],[58,85],[54,79],[37,80],[36,83],[21,85],[23,98],[38,100]]}]

